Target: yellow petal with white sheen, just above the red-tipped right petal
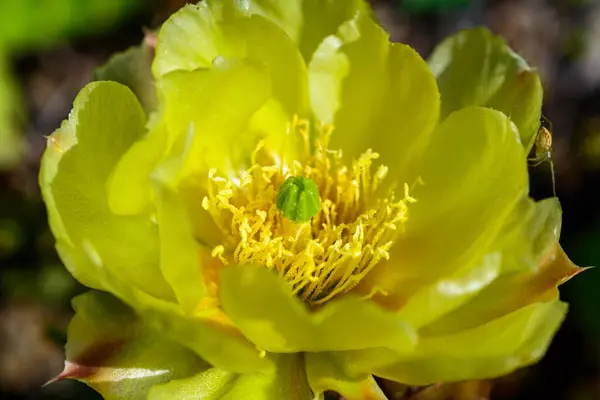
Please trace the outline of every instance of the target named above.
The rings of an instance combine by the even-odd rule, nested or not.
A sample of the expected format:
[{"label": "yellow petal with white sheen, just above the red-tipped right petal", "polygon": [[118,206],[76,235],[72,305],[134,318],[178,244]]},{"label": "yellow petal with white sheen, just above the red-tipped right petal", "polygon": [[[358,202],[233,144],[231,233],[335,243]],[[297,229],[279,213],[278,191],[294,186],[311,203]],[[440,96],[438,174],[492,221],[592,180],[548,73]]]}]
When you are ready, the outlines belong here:
[{"label": "yellow petal with white sheen, just above the red-tipped right petal", "polygon": [[[520,271],[525,275],[535,274],[541,277],[541,274],[547,272],[540,267],[543,257],[547,257],[548,250],[554,248],[558,241],[560,217],[560,206],[555,198],[536,203],[528,197],[523,197],[481,262],[467,264],[466,268],[460,268],[451,276],[416,293],[402,307],[400,317],[414,327],[422,327],[429,323],[437,326],[438,322],[441,323],[440,317],[450,313],[448,317],[442,317],[444,324],[460,324],[460,321],[471,319],[470,311],[465,310],[460,316],[451,311],[467,303],[480,305],[480,296],[488,289],[496,287],[498,282],[506,281],[505,274]],[[565,270],[565,273],[568,271]],[[558,284],[558,280],[556,282]],[[536,293],[531,293],[531,296],[519,296],[523,285],[514,283],[513,288],[503,285],[502,293],[494,291],[495,300],[490,298],[493,304],[486,304],[481,308],[482,312],[489,311],[483,312],[487,315],[487,320],[503,315],[493,311],[497,310],[501,303],[515,305],[505,309],[505,313],[508,313],[535,300]],[[532,288],[528,287],[526,290],[530,289]],[[487,320],[479,321],[478,324]]]}]

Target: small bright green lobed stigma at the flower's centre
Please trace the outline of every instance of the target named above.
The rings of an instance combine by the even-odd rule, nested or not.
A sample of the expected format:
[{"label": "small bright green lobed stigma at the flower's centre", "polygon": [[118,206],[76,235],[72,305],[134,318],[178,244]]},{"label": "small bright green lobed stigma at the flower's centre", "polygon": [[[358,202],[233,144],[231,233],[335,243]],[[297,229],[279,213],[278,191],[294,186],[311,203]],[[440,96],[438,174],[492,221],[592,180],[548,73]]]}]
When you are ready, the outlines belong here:
[{"label": "small bright green lobed stigma at the flower's centre", "polygon": [[303,176],[287,178],[279,187],[275,203],[281,214],[292,222],[307,222],[321,211],[317,185]]}]

